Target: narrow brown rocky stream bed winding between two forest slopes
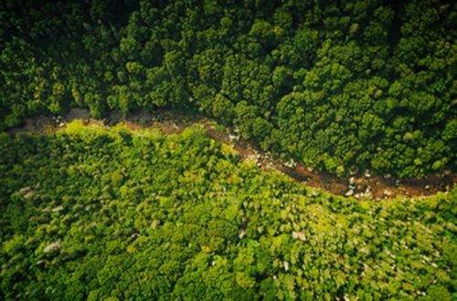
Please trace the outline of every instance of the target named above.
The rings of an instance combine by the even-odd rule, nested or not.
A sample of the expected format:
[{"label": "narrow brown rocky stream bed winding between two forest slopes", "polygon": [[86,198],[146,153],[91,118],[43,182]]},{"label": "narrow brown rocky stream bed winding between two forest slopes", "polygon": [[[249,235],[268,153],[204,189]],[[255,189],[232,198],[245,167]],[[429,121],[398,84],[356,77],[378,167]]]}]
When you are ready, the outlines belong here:
[{"label": "narrow brown rocky stream bed winding between two forest slopes", "polygon": [[263,170],[278,170],[289,175],[297,182],[332,192],[334,194],[354,196],[356,198],[369,198],[381,200],[393,198],[399,195],[420,196],[430,195],[440,191],[448,191],[457,182],[457,177],[451,171],[444,171],[441,174],[433,174],[424,179],[397,180],[390,176],[375,176],[369,172],[358,172],[348,179],[340,179],[326,172],[317,172],[306,168],[301,164],[292,161],[284,162],[273,158],[270,154],[260,150],[258,147],[246,140],[239,139],[239,135],[232,130],[217,127],[216,123],[198,114],[184,114],[183,112],[159,109],[154,113],[137,113],[122,118],[121,115],[112,113],[108,118],[102,120],[90,119],[90,113],[86,109],[70,109],[63,118],[52,118],[50,116],[39,116],[33,119],[26,119],[25,125],[21,128],[10,130],[15,134],[21,131],[31,132],[52,132],[74,119],[84,119],[90,122],[102,122],[106,125],[113,125],[118,122],[125,122],[131,129],[153,127],[165,134],[179,133],[186,127],[199,123],[207,130],[211,138],[231,144],[239,152],[241,159],[250,159]]}]

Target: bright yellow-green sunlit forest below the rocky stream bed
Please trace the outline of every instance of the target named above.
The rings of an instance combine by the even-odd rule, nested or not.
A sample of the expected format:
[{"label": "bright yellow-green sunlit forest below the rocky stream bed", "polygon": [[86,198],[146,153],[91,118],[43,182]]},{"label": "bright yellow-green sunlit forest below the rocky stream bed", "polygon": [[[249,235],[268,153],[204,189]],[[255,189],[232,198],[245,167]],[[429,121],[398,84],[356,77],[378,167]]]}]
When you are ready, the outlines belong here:
[{"label": "bright yellow-green sunlit forest below the rocky stream bed", "polygon": [[456,297],[457,188],[359,202],[179,135],[0,135],[0,299]]}]

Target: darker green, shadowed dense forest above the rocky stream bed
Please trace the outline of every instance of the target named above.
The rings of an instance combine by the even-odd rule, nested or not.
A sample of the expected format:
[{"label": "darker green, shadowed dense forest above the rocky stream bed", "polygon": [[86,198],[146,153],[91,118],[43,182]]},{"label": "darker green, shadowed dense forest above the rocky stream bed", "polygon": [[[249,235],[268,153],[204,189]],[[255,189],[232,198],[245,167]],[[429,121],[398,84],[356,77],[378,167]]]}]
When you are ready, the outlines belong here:
[{"label": "darker green, shadowed dense forest above the rocky stream bed", "polygon": [[338,175],[455,171],[456,18],[436,0],[5,0],[0,130],[195,109]]}]

